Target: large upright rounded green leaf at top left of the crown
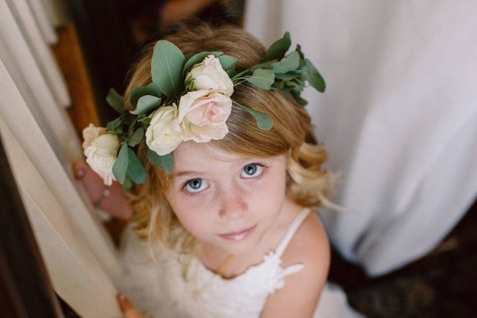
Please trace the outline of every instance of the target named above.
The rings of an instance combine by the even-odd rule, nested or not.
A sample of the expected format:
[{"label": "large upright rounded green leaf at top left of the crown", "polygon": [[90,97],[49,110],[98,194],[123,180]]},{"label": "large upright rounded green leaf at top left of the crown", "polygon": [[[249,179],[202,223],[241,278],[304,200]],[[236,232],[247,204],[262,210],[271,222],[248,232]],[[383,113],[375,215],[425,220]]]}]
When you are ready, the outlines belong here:
[{"label": "large upright rounded green leaf at top left of the crown", "polygon": [[154,46],[151,75],[153,82],[167,97],[178,95],[183,89],[183,63],[184,54],[169,41],[161,40]]}]

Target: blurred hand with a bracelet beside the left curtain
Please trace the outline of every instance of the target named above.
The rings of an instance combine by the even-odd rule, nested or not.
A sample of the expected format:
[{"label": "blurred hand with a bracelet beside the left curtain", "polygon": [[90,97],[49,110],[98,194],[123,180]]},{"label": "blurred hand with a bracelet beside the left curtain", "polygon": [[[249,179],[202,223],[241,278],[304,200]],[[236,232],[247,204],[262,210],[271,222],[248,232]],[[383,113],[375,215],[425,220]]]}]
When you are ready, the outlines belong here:
[{"label": "blurred hand with a bracelet beside the left curtain", "polygon": [[84,185],[94,206],[122,220],[131,218],[132,211],[129,200],[122,193],[119,182],[113,182],[110,187],[105,186],[101,177],[84,162],[74,162],[73,169],[75,178]]}]

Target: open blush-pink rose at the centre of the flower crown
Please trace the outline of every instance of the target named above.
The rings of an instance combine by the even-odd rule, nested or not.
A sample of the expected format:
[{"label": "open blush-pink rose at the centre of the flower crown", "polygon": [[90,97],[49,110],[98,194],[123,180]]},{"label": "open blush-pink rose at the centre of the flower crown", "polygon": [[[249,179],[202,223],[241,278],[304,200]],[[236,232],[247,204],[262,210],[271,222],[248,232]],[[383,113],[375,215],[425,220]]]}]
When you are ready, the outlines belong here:
[{"label": "open blush-pink rose at the centre of the flower crown", "polygon": [[207,89],[190,91],[180,97],[178,121],[187,139],[207,143],[222,139],[229,132],[226,121],[232,111],[232,99]]}]

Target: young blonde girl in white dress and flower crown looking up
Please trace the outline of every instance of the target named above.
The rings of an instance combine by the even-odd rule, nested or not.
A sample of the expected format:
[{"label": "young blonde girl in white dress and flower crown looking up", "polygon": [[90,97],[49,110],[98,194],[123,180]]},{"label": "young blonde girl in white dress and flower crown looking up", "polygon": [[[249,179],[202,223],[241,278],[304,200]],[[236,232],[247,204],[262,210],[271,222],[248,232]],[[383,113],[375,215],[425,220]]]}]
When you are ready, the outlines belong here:
[{"label": "young blonde girl in white dress and flower crown looking up", "polygon": [[[303,100],[299,93],[280,91],[278,64],[262,65],[276,71],[275,89],[245,82],[255,73],[236,80],[239,72],[265,61],[272,48],[267,51],[232,26],[181,29],[165,40],[185,56],[223,52],[239,59],[236,72],[224,72],[226,63],[223,71],[195,68],[212,65],[215,57],[208,55],[209,60],[197,63],[186,77],[187,94],[197,93],[202,99],[219,94],[204,104],[205,119],[199,118],[210,126],[193,126],[197,115],[193,111],[189,117],[181,115],[188,103],[184,95],[178,105],[172,103],[160,116],[150,116],[150,128],[137,150],[147,177],[131,191],[134,213],[121,247],[125,272],[117,280],[130,299],[119,297],[126,317],[352,317],[345,300],[332,299],[333,292],[325,286],[329,245],[313,208],[328,202],[332,176],[322,168],[326,152],[313,135],[306,109],[297,102]],[[133,88],[155,80],[151,68],[154,73],[157,51],[150,46],[137,64],[126,90],[127,109],[136,108],[129,103],[135,99]],[[296,52],[303,67],[303,53],[299,47]],[[267,72],[259,73],[267,77]],[[233,88],[225,76],[236,80]],[[188,86],[191,78],[193,85]],[[211,78],[224,81],[216,85]],[[206,97],[198,93],[202,79],[213,86]],[[228,96],[234,103],[230,109]],[[189,103],[190,109],[203,106],[194,103]],[[174,116],[179,122],[186,118],[186,124],[171,128]],[[224,118],[217,120],[220,116]],[[271,129],[260,125],[263,116],[273,120]],[[119,147],[114,146],[113,153]],[[163,161],[159,163],[163,169],[153,164],[151,149],[164,158],[173,149],[171,173],[164,171]],[[91,158],[87,147],[85,154]]]}]

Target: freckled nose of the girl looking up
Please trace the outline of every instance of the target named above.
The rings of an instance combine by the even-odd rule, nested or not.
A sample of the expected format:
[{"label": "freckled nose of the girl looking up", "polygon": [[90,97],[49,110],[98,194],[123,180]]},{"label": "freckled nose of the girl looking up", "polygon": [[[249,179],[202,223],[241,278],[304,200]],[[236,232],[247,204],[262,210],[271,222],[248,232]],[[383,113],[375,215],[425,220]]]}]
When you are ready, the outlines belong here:
[{"label": "freckled nose of the girl looking up", "polygon": [[239,187],[229,187],[221,194],[221,207],[219,215],[231,220],[240,219],[248,211],[246,193]]}]

